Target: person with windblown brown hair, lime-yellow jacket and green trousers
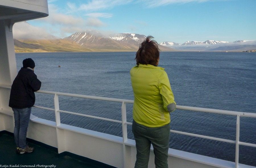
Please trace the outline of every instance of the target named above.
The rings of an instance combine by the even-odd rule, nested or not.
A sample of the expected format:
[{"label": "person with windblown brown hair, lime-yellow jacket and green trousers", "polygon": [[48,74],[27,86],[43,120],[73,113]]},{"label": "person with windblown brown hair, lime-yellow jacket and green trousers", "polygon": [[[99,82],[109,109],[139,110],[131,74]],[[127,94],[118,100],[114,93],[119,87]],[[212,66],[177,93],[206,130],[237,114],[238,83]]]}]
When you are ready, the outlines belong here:
[{"label": "person with windblown brown hair, lime-yellow jacket and green trousers", "polygon": [[168,168],[170,112],[176,109],[164,68],[158,67],[160,50],[148,36],[136,53],[137,65],[130,71],[134,93],[132,131],[136,142],[135,168],[148,167],[150,145],[156,168]]}]

